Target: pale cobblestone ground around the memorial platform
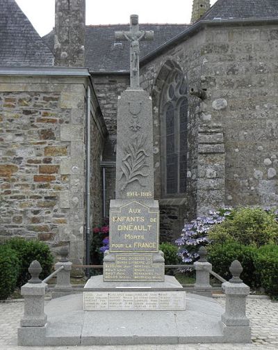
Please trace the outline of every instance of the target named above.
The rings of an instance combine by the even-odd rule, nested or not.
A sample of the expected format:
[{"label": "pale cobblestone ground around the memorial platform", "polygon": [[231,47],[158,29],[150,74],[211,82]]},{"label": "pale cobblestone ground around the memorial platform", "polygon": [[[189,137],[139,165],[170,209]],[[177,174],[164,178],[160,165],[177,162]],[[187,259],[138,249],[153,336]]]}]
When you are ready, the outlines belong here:
[{"label": "pale cobblestone ground around the memorial platform", "polygon": [[[224,298],[217,299],[224,306]],[[0,303],[0,350],[46,350],[53,347],[18,347],[17,327],[23,303]],[[278,303],[269,299],[247,299],[247,316],[252,326],[252,344],[179,344],[109,347],[55,347],[56,350],[272,350],[278,349]]]}]

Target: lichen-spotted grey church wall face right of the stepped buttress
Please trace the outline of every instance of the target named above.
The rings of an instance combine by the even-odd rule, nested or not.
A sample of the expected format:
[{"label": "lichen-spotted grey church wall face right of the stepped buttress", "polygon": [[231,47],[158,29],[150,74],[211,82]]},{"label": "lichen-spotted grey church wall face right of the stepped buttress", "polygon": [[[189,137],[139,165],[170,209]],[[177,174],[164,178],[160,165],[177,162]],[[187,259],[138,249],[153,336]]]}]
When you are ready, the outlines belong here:
[{"label": "lichen-spotted grey church wall face right of the stepped buttress", "polygon": [[278,202],[278,26],[206,31],[204,119],[220,123],[225,148],[226,205]]}]

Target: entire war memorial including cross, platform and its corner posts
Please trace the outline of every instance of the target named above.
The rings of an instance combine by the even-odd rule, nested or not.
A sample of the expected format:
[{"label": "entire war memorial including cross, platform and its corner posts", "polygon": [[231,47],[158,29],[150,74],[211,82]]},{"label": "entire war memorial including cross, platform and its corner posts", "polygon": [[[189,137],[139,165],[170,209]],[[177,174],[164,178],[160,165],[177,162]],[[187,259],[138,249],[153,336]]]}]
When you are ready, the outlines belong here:
[{"label": "entire war memorial including cross, platform and its corner posts", "polygon": [[[118,97],[116,196],[110,205],[110,246],[104,273],[92,276],[82,290],[70,285],[72,263],[66,253],[55,266],[57,285],[44,308],[47,279],[39,262],[22,287],[24,316],[18,343],[39,345],[179,344],[250,342],[245,315],[249,287],[240,280],[242,267],[231,264],[233,278],[223,283],[226,308],[211,298],[186,293],[173,276],[165,276],[159,250],[159,208],[154,200],[152,99],[140,88],[140,31],[131,15],[130,31],[117,31],[130,43],[130,87]],[[209,290],[211,264],[201,255],[195,262],[196,290]]]}]

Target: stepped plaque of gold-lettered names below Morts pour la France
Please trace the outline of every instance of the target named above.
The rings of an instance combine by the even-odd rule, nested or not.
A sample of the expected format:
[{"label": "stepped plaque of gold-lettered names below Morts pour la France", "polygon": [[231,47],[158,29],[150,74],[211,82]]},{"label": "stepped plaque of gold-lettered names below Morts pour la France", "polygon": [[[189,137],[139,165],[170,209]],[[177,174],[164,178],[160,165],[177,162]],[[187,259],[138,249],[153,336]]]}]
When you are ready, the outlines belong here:
[{"label": "stepped plaque of gold-lettered names below Morts pour la France", "polygon": [[164,264],[154,264],[152,254],[119,253],[115,259],[104,262],[104,281],[164,280]]}]

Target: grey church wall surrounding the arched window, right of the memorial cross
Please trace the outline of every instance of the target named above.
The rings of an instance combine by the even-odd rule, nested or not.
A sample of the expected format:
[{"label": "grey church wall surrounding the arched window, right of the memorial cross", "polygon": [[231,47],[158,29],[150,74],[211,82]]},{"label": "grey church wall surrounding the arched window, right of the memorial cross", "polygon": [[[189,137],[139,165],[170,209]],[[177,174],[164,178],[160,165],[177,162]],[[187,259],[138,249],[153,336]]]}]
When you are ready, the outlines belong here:
[{"label": "grey church wall surrounding the arched window, right of the memorial cross", "polygon": [[[189,88],[206,89],[203,101],[188,97],[184,218],[206,214],[220,205],[277,205],[277,53],[277,26],[215,26],[142,67],[141,86],[154,100],[154,129],[159,125],[156,79],[167,60],[178,63],[187,74]],[[159,198],[163,184],[157,137],[154,163]],[[181,206],[174,210],[173,203],[161,200],[165,236],[176,235],[181,225],[176,220]]]}]

